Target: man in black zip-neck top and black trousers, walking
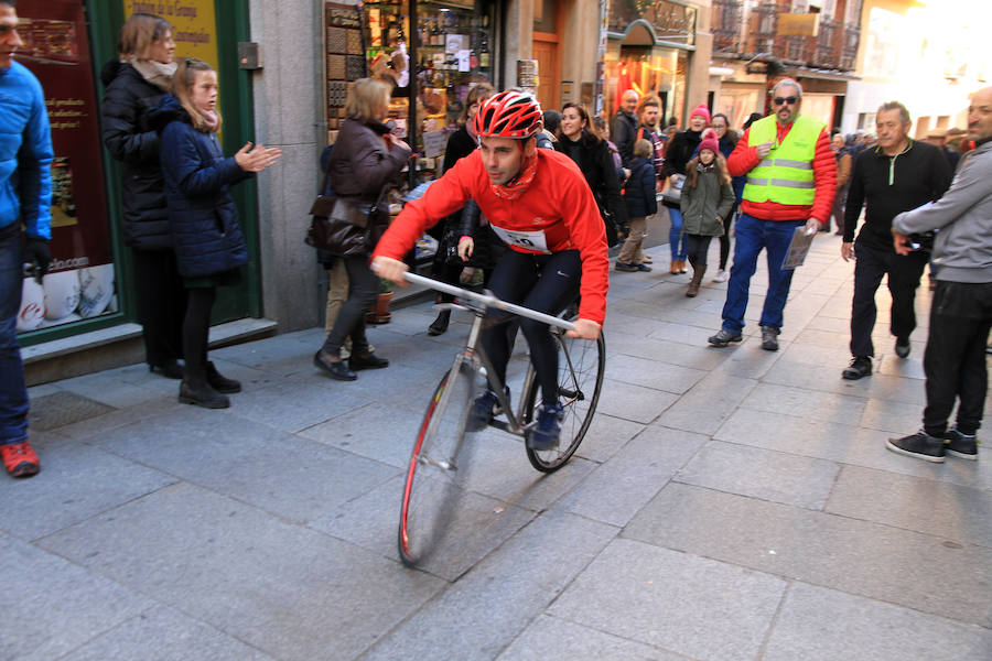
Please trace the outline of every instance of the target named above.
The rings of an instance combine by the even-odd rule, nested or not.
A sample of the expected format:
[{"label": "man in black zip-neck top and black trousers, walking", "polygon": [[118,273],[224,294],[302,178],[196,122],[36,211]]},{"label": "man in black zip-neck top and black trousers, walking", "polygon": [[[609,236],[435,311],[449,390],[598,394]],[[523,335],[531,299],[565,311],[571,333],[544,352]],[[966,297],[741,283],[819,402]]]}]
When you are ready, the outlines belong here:
[{"label": "man in black zip-neck top and black trousers, walking", "polygon": [[[898,101],[883,104],[876,113],[878,145],[862,151],[854,161],[844,213],[841,257],[855,257],[854,301],[851,306],[851,365],[844,379],[872,373],[872,329],[875,326],[875,291],[888,274],[892,294],[891,332],[895,353],[909,355],[909,334],[916,328],[913,302],[929,252],[920,247],[896,254],[892,243],[892,219],[899,213],[935,202],[950,186],[950,169],[940,150],[908,137],[909,111]],[[854,240],[861,207],[867,203],[865,223]]]}]

